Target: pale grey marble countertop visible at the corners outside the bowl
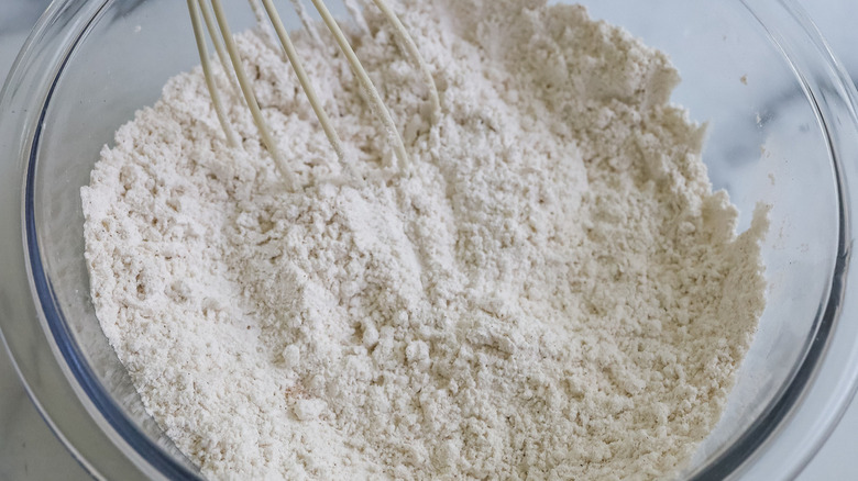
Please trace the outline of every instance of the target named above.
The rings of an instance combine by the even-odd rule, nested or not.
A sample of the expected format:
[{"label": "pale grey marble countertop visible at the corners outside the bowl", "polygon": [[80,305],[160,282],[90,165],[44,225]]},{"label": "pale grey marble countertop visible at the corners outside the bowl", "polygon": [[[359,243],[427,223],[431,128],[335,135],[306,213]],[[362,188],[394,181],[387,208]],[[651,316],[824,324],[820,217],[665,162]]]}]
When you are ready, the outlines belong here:
[{"label": "pale grey marble countertop visible at the corners outside the bowl", "polygon": [[[46,0],[0,0],[0,82],[6,78]],[[858,2],[802,0],[853,78],[858,81]],[[2,273],[0,273],[1,276]],[[0,481],[88,480],[26,396],[0,345]],[[854,402],[820,454],[799,478],[858,479],[858,402]]]}]

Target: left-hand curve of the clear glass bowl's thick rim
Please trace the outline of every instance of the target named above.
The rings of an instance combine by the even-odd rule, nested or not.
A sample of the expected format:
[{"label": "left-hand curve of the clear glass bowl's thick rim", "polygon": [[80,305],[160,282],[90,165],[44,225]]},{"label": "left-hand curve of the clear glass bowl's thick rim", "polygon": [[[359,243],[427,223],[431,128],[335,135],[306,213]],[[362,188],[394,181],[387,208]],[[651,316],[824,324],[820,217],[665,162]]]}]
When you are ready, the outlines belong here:
[{"label": "left-hand curve of the clear glass bowl's thick rim", "polygon": [[[10,157],[18,164],[16,175],[0,179],[0,216],[10,222],[22,221],[16,227],[0,230],[4,240],[21,248],[20,258],[3,259],[10,265],[9,275],[0,281],[0,292],[10,299],[28,300],[24,304],[11,303],[13,309],[0,316],[0,337],[31,402],[91,476],[196,480],[201,479],[197,472],[140,432],[87,365],[59,310],[35,240],[33,189],[47,107],[75,47],[110,3],[111,0],[51,3],[24,42],[0,91],[0,146],[13,152]],[[30,108],[34,104],[40,109]],[[14,215],[8,212],[12,205],[18,211]],[[127,436],[130,433],[134,435]]]}]

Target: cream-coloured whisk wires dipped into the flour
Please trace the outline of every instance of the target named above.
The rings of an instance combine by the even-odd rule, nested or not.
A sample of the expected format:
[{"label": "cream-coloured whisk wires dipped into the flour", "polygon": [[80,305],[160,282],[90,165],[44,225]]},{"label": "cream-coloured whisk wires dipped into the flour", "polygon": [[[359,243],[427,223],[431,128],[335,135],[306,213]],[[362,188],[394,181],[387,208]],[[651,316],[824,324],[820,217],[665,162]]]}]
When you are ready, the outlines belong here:
[{"label": "cream-coloured whisk wires dipped into the flour", "polygon": [[[260,1],[262,2],[262,5],[260,5]],[[399,131],[396,128],[396,124],[391,116],[391,112],[382,100],[378,90],[370,79],[366,70],[361,65],[361,60],[355,55],[354,49],[349,43],[345,34],[340,29],[337,21],[324,4],[324,0],[311,0],[311,2],[319,12],[322,22],[330,31],[331,35],[337,42],[337,45],[343,53],[345,59],[352,68],[352,71],[361,83],[364,92],[366,93],[366,97],[369,98],[372,110],[380,118],[382,124],[384,125],[397,158],[399,169],[405,169],[409,163],[408,153],[405,149],[403,137],[399,134]],[[431,102],[431,109],[433,112],[432,115],[437,115],[440,111],[438,90],[435,86],[435,80],[432,79],[432,75],[428,65],[417,49],[417,45],[408,34],[405,25],[403,25],[399,18],[396,15],[396,13],[394,13],[385,0],[373,0],[373,2],[392,24],[400,47],[407,52],[413,61],[416,64],[417,68],[419,68],[421,76],[424,77],[424,81],[429,88],[429,101]],[[263,118],[262,110],[260,109],[258,102],[256,101],[256,96],[253,91],[253,86],[248,78],[248,74],[244,70],[244,67],[242,66],[241,56],[227,21],[227,15],[224,13],[221,0],[187,0],[187,3],[191,24],[194,26],[194,36],[196,38],[197,48],[199,51],[200,61],[202,65],[202,71],[206,77],[206,86],[209,90],[218,121],[221,124],[228,144],[232,147],[239,146],[235,134],[232,132],[229,120],[227,119],[223,103],[215,82],[215,75],[209,59],[206,32],[208,32],[208,35],[211,38],[211,43],[215,46],[215,51],[224,71],[228,74],[228,76],[230,76],[230,70],[232,70],[235,79],[238,79],[239,88],[242,92],[242,96],[244,97],[248,108],[251,111],[253,122],[260,132],[260,137],[262,138],[263,145],[268,150],[274,161],[277,164],[277,167],[280,170],[280,174],[286,180],[288,187],[290,189],[295,189],[297,187],[297,179],[295,174],[287,167],[286,163],[284,161],[283,156],[277,148],[277,143],[272,135],[272,131]],[[328,114],[322,109],[321,102],[316,94],[312,81],[304,69],[300,58],[298,57],[295,46],[293,45],[292,38],[289,37],[289,33],[284,26],[277,9],[274,7],[272,0],[250,0],[250,4],[256,14],[257,21],[260,21],[261,24],[264,18],[267,16],[270,20],[271,25],[274,27],[274,32],[279,40],[280,46],[283,47],[293,70],[298,77],[298,82],[300,83],[304,93],[307,96],[310,107],[319,120],[319,123],[321,124],[321,127],[324,131],[331,147],[333,148],[338,158],[342,160],[344,155],[342,142],[340,141],[333,124],[328,118]],[[305,26],[309,27],[307,20],[308,16],[300,1],[293,0],[293,4],[295,5],[298,15],[301,18],[301,21],[305,23]],[[354,5],[351,7],[354,10]]]}]

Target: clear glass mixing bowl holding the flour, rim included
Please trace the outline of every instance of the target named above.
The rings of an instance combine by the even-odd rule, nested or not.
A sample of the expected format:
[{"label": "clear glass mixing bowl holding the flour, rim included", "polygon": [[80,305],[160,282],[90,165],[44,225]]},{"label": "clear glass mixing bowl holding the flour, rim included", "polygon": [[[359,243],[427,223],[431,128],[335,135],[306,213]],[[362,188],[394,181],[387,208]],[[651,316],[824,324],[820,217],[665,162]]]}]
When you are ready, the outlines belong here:
[{"label": "clear glass mixing bowl holding the flour, rim included", "polygon": [[[704,160],[741,227],[758,201],[773,205],[759,333],[722,423],[682,477],[791,478],[858,373],[847,189],[858,179],[856,92],[792,0],[584,3],[670,54],[684,79],[673,99],[710,122]],[[233,22],[249,26],[250,12]],[[98,478],[198,477],[99,328],[78,194],[114,130],[197,63],[184,2],[56,1],[0,96],[0,327],[33,402]]]}]

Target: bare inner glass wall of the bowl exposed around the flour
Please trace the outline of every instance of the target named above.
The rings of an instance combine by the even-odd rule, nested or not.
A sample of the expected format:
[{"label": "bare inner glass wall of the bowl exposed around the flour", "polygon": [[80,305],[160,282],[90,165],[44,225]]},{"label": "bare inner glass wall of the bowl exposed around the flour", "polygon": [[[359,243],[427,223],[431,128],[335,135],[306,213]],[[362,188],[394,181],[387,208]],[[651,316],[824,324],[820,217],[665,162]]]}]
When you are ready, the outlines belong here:
[{"label": "bare inner glass wall of the bowl exposed around the flour", "polygon": [[[241,3],[238,5],[238,3]],[[740,230],[758,202],[772,205],[763,245],[768,305],[729,404],[686,476],[715,469],[730,447],[754,436],[805,358],[828,301],[837,256],[840,205],[828,137],[795,71],[740,1],[590,0],[591,14],[628,29],[667,52],[683,77],[673,100],[710,124],[704,160],[716,189],[741,211]],[[252,24],[233,2],[233,30]],[[282,5],[287,11],[288,5]],[[333,9],[341,10],[341,9]],[[295,26],[295,25],[292,25]],[[130,421],[125,441],[147,440],[182,458],[146,415],[128,374],[100,331],[89,301],[79,188],[99,150],[134,111],[152,104],[165,81],[199,63],[184,2],[108,1],[77,40],[43,108],[34,139],[34,183],[28,219],[35,226],[53,306],[43,306],[55,337],[75,347],[68,365],[87,395]],[[114,426],[117,427],[117,426]],[[189,471],[190,472],[190,471]]]}]

